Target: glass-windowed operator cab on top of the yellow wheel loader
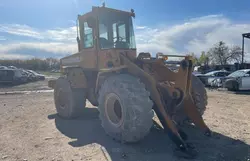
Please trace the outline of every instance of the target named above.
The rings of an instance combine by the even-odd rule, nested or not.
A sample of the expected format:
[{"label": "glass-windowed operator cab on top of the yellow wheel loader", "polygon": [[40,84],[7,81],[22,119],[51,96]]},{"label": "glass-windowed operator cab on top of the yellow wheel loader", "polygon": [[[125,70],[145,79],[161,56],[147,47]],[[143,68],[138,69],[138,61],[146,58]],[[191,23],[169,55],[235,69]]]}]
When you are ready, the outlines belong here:
[{"label": "glass-windowed operator cab on top of the yellow wheel loader", "polygon": [[120,66],[119,53],[136,57],[136,44],[132,17],[134,11],[125,12],[107,7],[93,7],[78,16],[78,50],[96,55],[97,68]]}]

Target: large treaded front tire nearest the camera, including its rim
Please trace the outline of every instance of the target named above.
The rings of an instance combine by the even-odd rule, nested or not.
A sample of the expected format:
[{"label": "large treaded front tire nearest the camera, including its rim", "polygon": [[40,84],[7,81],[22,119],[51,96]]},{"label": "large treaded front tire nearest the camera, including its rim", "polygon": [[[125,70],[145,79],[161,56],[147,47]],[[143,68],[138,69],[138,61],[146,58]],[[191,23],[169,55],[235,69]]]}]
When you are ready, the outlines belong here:
[{"label": "large treaded front tire nearest the camera, including its rim", "polygon": [[153,102],[145,85],[128,74],[110,76],[99,90],[98,109],[106,133],[121,142],[137,142],[152,127]]}]

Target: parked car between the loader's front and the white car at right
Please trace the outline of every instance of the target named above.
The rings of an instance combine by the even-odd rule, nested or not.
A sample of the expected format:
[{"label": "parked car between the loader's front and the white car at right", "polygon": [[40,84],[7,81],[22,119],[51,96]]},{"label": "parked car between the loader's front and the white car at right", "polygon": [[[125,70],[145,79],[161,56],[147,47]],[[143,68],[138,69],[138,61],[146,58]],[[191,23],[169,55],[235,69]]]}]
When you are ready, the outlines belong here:
[{"label": "parked car between the loader's front and the white car at right", "polygon": [[228,76],[231,72],[226,70],[211,71],[206,74],[196,74],[205,86],[214,86],[217,79]]}]

